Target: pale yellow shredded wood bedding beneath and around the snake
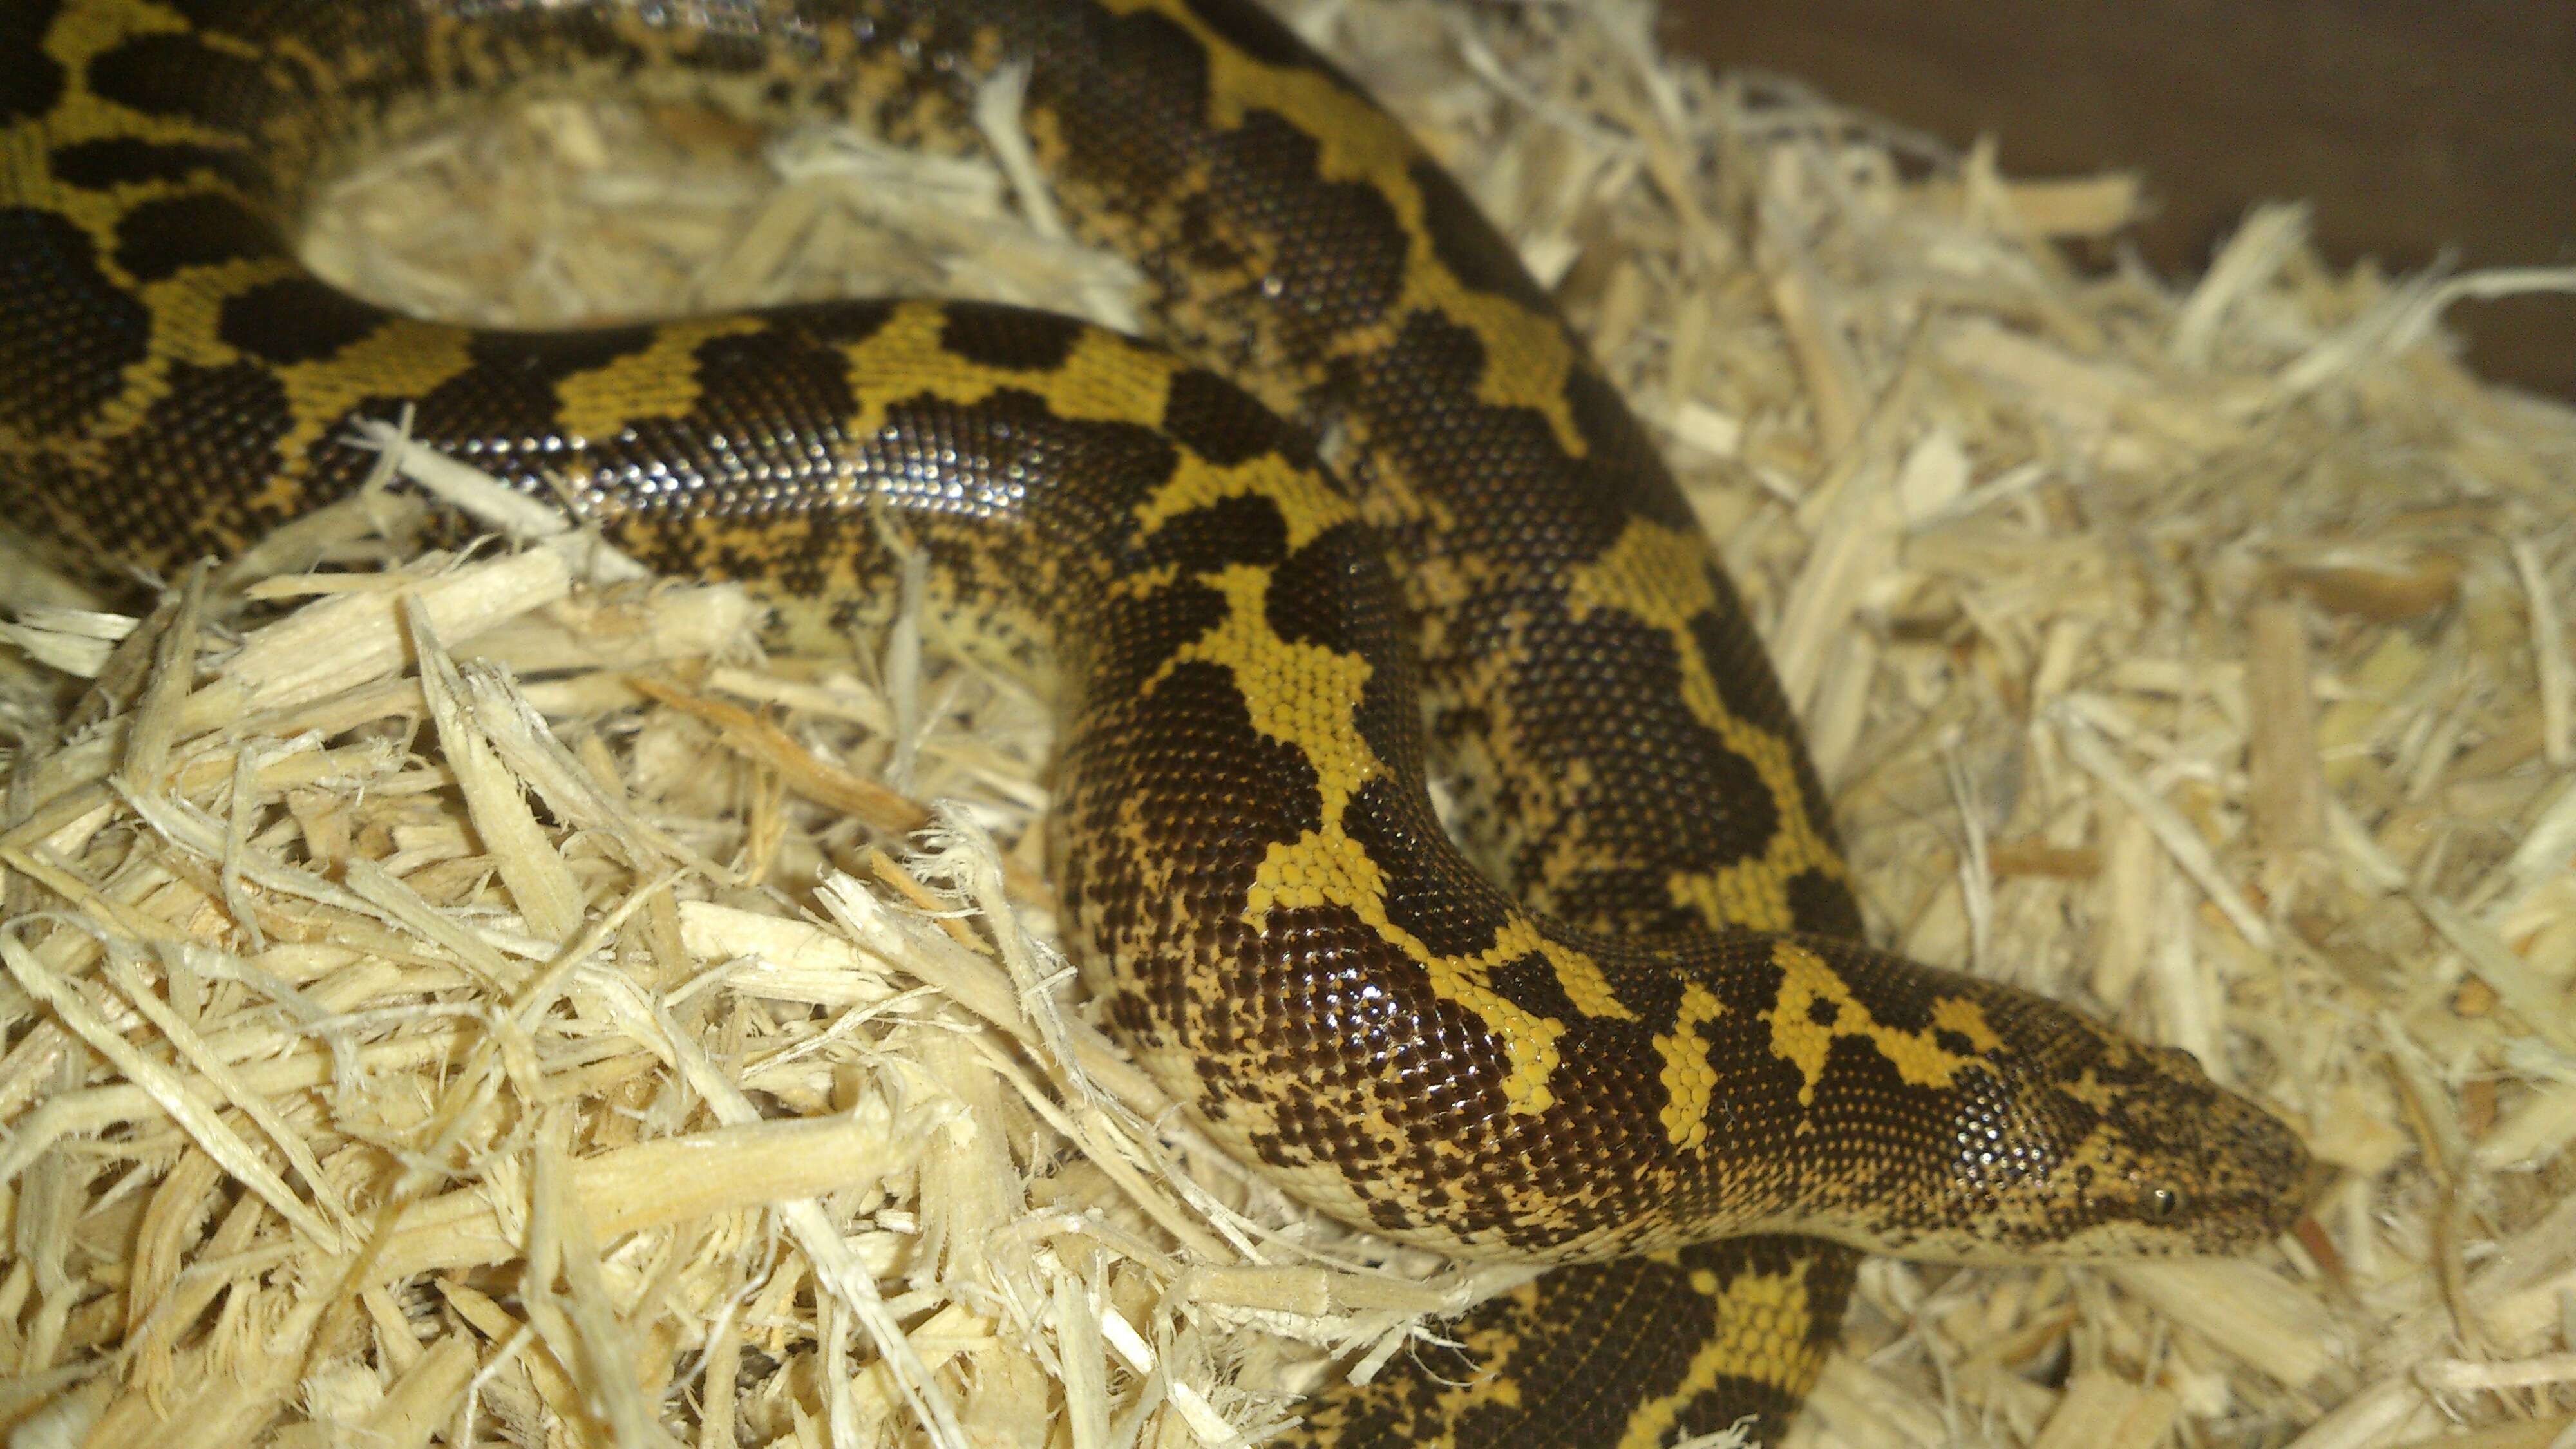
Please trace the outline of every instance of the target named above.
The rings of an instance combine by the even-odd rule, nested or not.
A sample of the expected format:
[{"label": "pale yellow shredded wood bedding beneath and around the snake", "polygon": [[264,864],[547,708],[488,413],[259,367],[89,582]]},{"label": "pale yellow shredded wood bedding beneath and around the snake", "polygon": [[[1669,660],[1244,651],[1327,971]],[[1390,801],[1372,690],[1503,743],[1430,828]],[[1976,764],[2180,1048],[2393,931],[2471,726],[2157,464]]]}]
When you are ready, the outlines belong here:
[{"label": "pale yellow shredded wood bedding beneath and around the snake", "polygon": [[[2151,180],[1996,175],[1633,5],[1301,23],[1667,438],[1880,938],[2190,1047],[2339,1171],[2241,1263],[1873,1263],[1801,1444],[2563,1444],[2576,418],[2437,320],[2568,278],[2339,273],[2295,209],[2200,281],[2079,268]],[[750,139],[531,98],[309,248],[453,317],[1121,317],[994,170]],[[15,1441],[1234,1444],[1510,1281],[1285,1204],[1084,1026],[1036,701],[417,511],[8,629]]]}]

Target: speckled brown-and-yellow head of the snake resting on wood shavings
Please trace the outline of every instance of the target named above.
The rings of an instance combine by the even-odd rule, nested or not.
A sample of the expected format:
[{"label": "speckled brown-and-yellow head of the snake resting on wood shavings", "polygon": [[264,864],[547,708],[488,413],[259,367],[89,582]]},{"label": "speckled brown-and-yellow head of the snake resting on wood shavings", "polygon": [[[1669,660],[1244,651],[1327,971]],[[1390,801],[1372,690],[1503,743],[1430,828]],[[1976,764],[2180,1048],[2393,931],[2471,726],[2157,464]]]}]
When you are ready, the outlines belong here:
[{"label": "speckled brown-and-yellow head of the snake resting on wood shavings", "polygon": [[[1832,975],[1801,987],[1801,959]],[[1847,1083],[1829,1106],[1865,1134],[1826,1152],[1852,1165],[1819,1214],[1857,1248],[1976,1263],[2244,1253],[2306,1212],[2298,1134],[2190,1052],[1862,946],[1806,941],[1780,962],[1775,1052],[1806,1042],[1811,1062],[1839,1065],[1814,1080]],[[1837,1011],[1811,1000],[1826,990]],[[1832,1021],[1832,1055],[1816,1021]]]}]

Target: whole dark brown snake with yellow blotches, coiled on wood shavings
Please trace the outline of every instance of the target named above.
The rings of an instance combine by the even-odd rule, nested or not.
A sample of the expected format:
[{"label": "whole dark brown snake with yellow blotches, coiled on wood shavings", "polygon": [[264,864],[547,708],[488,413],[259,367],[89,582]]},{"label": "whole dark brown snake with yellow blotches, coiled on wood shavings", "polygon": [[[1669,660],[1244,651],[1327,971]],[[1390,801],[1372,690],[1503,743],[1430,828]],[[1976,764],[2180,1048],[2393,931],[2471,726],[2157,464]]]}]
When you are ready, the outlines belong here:
[{"label": "whole dark brown snake with yellow blotches, coiled on wood shavings", "polygon": [[[469,330],[286,242],[451,98],[956,150],[1018,62],[1154,345],[945,302]],[[93,559],[237,552],[404,405],[837,627],[886,611],[891,513],[940,616],[1054,681],[1066,926],[1139,1060],[1324,1212],[1569,1263],[1327,1392],[1314,1441],[1775,1434],[1857,1253],[2241,1250],[2298,1214],[2298,1140],[2192,1057],[1857,941],[1654,446],[1458,186],[1244,0],[5,0],[10,498]]]}]

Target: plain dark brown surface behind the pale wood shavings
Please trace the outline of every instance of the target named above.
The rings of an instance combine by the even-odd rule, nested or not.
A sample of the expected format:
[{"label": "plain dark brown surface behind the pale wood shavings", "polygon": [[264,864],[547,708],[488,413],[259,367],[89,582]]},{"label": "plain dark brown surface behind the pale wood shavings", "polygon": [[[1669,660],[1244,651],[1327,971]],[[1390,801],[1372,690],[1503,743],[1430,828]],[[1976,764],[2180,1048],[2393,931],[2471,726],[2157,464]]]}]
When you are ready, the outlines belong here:
[{"label": "plain dark brown surface behind the pale wood shavings", "polygon": [[[2576,0],[1664,0],[1716,64],[1814,80],[2017,175],[2141,170],[2200,271],[2254,201],[2339,260],[2576,263]],[[2576,397],[2576,297],[2463,302],[2486,376]]]}]

